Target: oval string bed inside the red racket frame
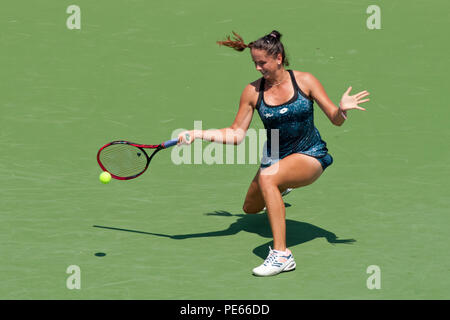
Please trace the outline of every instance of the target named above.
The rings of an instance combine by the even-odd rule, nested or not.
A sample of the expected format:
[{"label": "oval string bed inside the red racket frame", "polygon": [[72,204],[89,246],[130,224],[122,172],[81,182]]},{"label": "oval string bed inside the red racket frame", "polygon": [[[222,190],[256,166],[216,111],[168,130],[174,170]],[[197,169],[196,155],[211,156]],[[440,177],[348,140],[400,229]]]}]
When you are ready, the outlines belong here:
[{"label": "oval string bed inside the red racket frame", "polygon": [[100,162],[111,174],[128,178],[147,168],[145,152],[129,144],[112,144],[100,152]]}]

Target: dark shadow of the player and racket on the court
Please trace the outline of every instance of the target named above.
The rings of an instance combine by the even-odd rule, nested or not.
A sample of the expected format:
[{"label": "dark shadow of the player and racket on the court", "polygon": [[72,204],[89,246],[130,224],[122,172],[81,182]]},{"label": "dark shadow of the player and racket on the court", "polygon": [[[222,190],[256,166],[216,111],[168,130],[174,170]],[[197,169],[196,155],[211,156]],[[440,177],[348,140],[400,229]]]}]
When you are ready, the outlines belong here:
[{"label": "dark shadow of the player and racket on the court", "polygon": [[[270,229],[266,213],[231,214],[230,212],[227,211],[214,211],[206,213],[205,215],[216,217],[238,217],[238,219],[234,223],[230,224],[230,226],[227,229],[224,230],[210,231],[203,233],[178,234],[178,235],[167,235],[161,233],[152,233],[137,230],[96,226],[96,225],[94,227],[167,237],[175,240],[231,236],[241,231],[255,233],[263,238],[272,238],[272,231]],[[351,244],[356,241],[355,239],[338,239],[338,236],[336,236],[336,234],[334,234],[331,231],[322,229],[320,227],[317,227],[315,225],[306,222],[286,219],[286,245],[288,248],[314,240],[316,238],[325,238],[329,243],[332,244],[336,243]],[[253,249],[253,253],[258,257],[265,259],[268,252],[268,246],[273,247],[273,241],[269,241],[256,247],[255,249]]]}]

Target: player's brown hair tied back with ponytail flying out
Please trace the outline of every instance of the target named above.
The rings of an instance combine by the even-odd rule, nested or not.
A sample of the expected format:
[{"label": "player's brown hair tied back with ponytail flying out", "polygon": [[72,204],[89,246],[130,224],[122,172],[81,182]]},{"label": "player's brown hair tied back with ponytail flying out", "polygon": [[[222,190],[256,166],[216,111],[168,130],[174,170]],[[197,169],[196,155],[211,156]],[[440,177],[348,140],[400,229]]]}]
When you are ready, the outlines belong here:
[{"label": "player's brown hair tied back with ponytail flying out", "polygon": [[280,41],[281,33],[277,30],[273,30],[271,33],[259,38],[258,40],[252,41],[249,44],[245,44],[244,39],[242,39],[240,35],[234,31],[232,32],[234,35],[233,39],[231,39],[230,36],[227,36],[226,40],[217,41],[217,44],[233,48],[237,51],[244,51],[245,48],[264,50],[273,57],[276,57],[280,53],[283,65],[289,65],[284,46]]}]

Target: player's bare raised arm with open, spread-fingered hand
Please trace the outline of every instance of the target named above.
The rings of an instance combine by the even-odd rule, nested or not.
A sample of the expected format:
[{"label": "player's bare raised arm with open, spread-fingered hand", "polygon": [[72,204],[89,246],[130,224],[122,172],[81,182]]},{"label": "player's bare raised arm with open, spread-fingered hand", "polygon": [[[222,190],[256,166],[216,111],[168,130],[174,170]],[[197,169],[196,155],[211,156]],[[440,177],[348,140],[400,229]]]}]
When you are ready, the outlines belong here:
[{"label": "player's bare raised arm with open, spread-fingered hand", "polygon": [[302,84],[304,84],[304,86],[308,89],[309,96],[316,101],[322,111],[327,115],[328,119],[330,119],[330,121],[336,126],[341,126],[344,123],[347,119],[348,110],[358,109],[366,111],[366,109],[358,106],[358,104],[370,100],[362,100],[369,95],[366,90],[350,96],[349,93],[352,90],[352,87],[349,87],[342,95],[341,101],[339,102],[339,107],[337,107],[328,97],[320,81],[317,80],[317,78],[312,74],[304,72],[302,74],[301,81]]}]

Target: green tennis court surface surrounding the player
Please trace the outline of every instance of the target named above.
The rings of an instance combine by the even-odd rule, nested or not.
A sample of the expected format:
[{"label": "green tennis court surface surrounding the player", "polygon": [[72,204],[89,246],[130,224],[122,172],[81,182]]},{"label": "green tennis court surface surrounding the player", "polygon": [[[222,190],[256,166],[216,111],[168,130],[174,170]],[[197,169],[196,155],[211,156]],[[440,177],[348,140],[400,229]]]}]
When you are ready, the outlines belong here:
[{"label": "green tennis court surface surrounding the player", "polygon": [[[74,4],[81,29],[66,24]],[[367,27],[371,5],[381,29]],[[448,11],[444,0],[2,1],[0,298],[449,299]],[[350,85],[371,101],[342,127],[315,108],[335,161],[285,198],[297,269],[259,278],[270,227],[242,211],[258,164],[175,165],[164,151],[142,177],[104,185],[96,153],[194,121],[229,126],[260,75],[248,52],[215,42],[273,29],[290,68],[333,102]],[[251,128],[263,128],[256,114]]]}]

